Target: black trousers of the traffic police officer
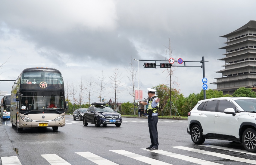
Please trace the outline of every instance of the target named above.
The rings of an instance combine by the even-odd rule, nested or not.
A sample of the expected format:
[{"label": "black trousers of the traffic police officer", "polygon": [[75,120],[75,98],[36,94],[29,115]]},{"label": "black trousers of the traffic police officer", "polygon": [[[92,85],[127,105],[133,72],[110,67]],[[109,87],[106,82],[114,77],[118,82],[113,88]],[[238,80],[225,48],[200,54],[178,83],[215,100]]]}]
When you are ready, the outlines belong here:
[{"label": "black trousers of the traffic police officer", "polygon": [[158,132],[157,132],[158,116],[148,116],[148,128],[151,140],[151,146],[158,148]]}]

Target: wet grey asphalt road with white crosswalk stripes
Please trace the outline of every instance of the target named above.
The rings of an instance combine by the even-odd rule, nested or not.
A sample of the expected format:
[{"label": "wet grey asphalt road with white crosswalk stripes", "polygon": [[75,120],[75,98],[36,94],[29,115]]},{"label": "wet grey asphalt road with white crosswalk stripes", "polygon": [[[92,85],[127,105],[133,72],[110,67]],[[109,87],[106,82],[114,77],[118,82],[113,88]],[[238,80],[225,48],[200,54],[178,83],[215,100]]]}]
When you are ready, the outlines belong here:
[{"label": "wet grey asphalt road with white crosswalk stripes", "polygon": [[[186,125],[186,120],[159,119],[159,150],[150,152],[145,149],[150,145],[147,119],[123,118],[120,127],[95,128],[67,115],[66,125],[57,132],[23,128],[21,133],[11,128],[10,120],[0,120],[0,164],[256,164],[256,154],[246,153],[240,143],[206,139],[205,146],[195,145]],[[217,149],[220,147],[226,148]]]}]

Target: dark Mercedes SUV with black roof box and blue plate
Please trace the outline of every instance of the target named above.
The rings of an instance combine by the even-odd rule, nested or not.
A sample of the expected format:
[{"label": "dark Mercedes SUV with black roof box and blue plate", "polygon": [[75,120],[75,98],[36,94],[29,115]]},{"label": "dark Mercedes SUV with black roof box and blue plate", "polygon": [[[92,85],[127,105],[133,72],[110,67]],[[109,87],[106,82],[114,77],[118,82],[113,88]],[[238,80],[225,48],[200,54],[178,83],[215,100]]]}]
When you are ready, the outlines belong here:
[{"label": "dark Mercedes SUV with black roof box and blue plate", "polygon": [[115,124],[120,127],[122,123],[121,114],[115,112],[105,102],[94,102],[83,114],[83,125],[87,126],[88,123],[92,123],[95,127],[99,127],[107,124]]}]

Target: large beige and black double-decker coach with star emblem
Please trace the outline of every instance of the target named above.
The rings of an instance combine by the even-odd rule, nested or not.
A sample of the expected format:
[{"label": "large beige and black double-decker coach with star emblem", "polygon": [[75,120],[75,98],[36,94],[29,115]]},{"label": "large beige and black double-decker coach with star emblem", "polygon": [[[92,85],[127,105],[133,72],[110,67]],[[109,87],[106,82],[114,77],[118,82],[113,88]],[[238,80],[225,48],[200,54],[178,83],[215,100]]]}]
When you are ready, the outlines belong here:
[{"label": "large beige and black double-decker coach with star emblem", "polygon": [[11,126],[23,128],[65,125],[64,82],[61,72],[52,68],[24,69],[11,90]]}]

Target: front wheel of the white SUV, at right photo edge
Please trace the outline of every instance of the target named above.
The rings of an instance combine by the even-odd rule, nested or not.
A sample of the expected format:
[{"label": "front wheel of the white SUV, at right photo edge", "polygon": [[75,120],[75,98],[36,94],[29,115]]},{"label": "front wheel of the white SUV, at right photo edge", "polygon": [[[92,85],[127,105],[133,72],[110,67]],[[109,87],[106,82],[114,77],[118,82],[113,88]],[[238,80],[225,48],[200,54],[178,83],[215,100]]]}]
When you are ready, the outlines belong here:
[{"label": "front wheel of the white SUV, at right photo edge", "polygon": [[247,128],[242,136],[244,148],[249,152],[256,152],[256,131],[252,128]]}]

